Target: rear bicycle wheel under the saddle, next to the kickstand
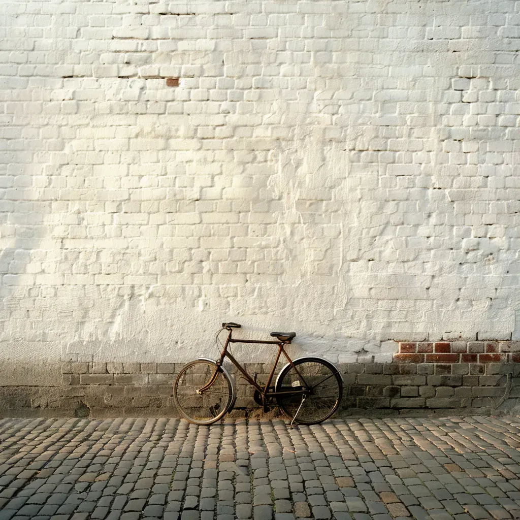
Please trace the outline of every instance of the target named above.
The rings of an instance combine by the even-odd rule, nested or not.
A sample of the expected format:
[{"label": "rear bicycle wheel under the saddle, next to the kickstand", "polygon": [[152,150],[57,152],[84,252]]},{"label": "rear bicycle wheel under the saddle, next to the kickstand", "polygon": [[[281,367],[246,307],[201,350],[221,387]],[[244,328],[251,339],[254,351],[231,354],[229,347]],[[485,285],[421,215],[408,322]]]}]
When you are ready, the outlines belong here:
[{"label": "rear bicycle wheel under the saddle, next to the kickstand", "polygon": [[278,406],[291,419],[297,412],[295,422],[300,424],[319,424],[326,421],[339,408],[343,397],[343,379],[340,372],[331,362],[316,357],[296,359],[293,363],[304,384],[300,375],[289,364],[280,372],[275,392],[315,386],[311,393],[306,394],[303,403],[300,395],[276,396]]}]

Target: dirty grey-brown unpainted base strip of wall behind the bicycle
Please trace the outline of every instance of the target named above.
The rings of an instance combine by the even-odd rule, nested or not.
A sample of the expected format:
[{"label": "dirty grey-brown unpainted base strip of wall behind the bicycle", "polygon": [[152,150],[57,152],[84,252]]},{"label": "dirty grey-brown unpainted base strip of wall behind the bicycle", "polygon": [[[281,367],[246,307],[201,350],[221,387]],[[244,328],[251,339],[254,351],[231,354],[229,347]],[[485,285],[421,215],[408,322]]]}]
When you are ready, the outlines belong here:
[{"label": "dirty grey-brown unpainted base strip of wall behind the bicycle", "polygon": [[[2,417],[177,417],[172,386],[177,363],[88,363],[17,367],[0,383]],[[520,363],[343,363],[344,393],[337,417],[515,413]],[[269,363],[244,368],[267,380]],[[4,366],[4,373],[9,367]],[[38,372],[39,371],[39,372]],[[56,377],[60,373],[60,379]],[[253,388],[238,377],[233,415],[263,414]],[[28,379],[31,377],[32,380]],[[6,382],[7,381],[7,384]],[[520,409],[519,409],[520,410]],[[276,406],[272,414],[278,413]]]}]

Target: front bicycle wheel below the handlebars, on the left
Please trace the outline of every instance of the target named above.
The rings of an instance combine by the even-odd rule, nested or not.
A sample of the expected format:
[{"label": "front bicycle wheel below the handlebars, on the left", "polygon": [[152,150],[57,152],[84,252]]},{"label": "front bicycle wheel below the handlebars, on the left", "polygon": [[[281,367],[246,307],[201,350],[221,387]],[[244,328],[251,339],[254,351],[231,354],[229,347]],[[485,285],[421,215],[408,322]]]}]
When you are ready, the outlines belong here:
[{"label": "front bicycle wheel below the handlebars, on the left", "polygon": [[191,361],[177,375],[173,385],[175,406],[190,423],[201,426],[216,423],[224,417],[233,398],[232,383],[222,368],[213,384],[201,394],[197,390],[212,378],[217,364],[211,360]]}]

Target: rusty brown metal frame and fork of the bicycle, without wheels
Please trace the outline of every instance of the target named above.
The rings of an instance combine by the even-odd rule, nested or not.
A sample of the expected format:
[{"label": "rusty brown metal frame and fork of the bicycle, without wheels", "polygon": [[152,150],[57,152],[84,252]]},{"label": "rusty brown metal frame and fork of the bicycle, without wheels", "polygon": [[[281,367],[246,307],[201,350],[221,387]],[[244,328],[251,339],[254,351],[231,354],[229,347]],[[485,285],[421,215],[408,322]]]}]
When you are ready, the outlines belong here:
[{"label": "rusty brown metal frame and fork of the bicycle, without wheels", "polygon": [[[215,381],[215,379],[217,377],[217,374],[218,374],[218,370],[219,370],[220,366],[222,366],[222,363],[223,363],[225,357],[227,357],[233,363],[233,365],[235,365],[240,370],[240,372],[244,376],[245,380],[250,385],[254,386],[257,389],[257,391],[262,395],[263,398],[265,398],[267,395],[269,395],[269,397],[270,396],[277,396],[277,395],[302,395],[302,394],[305,394],[305,393],[307,393],[309,391],[310,388],[307,385],[307,383],[305,382],[305,379],[303,378],[302,374],[300,374],[300,372],[298,372],[298,369],[294,365],[292,359],[289,357],[289,355],[287,354],[287,352],[285,352],[285,350],[283,348],[284,345],[291,344],[290,341],[283,342],[283,341],[264,341],[264,340],[233,340],[233,338],[231,337],[232,336],[232,329],[229,328],[227,330],[229,330],[229,334],[228,334],[226,343],[224,345],[224,349],[222,350],[222,352],[220,353],[220,357],[216,361],[217,368],[215,370],[215,373],[213,374],[213,376],[210,379],[210,381],[207,382],[207,384],[205,384],[202,388],[198,389],[198,393],[204,392],[205,390],[210,388],[210,386],[214,383],[214,381]],[[230,343],[250,343],[250,344],[252,343],[252,344],[262,344],[262,345],[278,345],[278,353],[276,355],[275,364],[272,367],[271,373],[269,374],[269,378],[267,380],[267,383],[266,383],[265,387],[260,386],[245,371],[245,369],[242,367],[242,365],[240,365],[240,363],[232,356],[232,354],[230,354],[227,351],[228,346],[229,346]],[[300,377],[300,379],[303,381],[303,386],[305,386],[305,388],[303,390],[291,390],[291,391],[285,391],[285,392],[269,392],[269,386],[271,385],[272,378],[275,375],[276,367],[278,366],[278,361],[280,360],[280,356],[282,355],[282,353],[287,358],[287,360],[289,361],[290,365],[294,368],[294,370],[298,374],[298,377]]]}]

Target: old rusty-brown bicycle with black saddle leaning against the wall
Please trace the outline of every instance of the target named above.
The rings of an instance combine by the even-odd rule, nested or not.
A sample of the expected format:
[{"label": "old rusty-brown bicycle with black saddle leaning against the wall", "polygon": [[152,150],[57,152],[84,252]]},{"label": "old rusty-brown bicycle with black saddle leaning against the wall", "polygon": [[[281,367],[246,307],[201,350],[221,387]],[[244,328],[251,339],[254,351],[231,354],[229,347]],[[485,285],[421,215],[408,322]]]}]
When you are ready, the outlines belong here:
[{"label": "old rusty-brown bicycle with black saddle leaning against the wall", "polygon": [[[174,386],[173,399],[179,412],[189,422],[200,425],[213,424],[233,409],[236,401],[235,386],[223,365],[228,358],[241,372],[245,380],[254,386],[254,400],[266,409],[275,398],[280,409],[301,424],[319,424],[327,420],[339,408],[343,395],[343,378],[339,370],[326,359],[315,356],[297,358],[294,361],[284,347],[291,344],[295,332],[271,332],[276,341],[233,339],[232,330],[240,329],[238,323],[223,323],[216,340],[223,330],[228,331],[226,343],[215,361],[199,358],[189,362],[179,372]],[[275,365],[265,386],[260,386],[240,363],[228,352],[231,343],[278,345]],[[222,345],[222,343],[220,343]],[[284,354],[288,363],[271,386],[280,356]]]}]

